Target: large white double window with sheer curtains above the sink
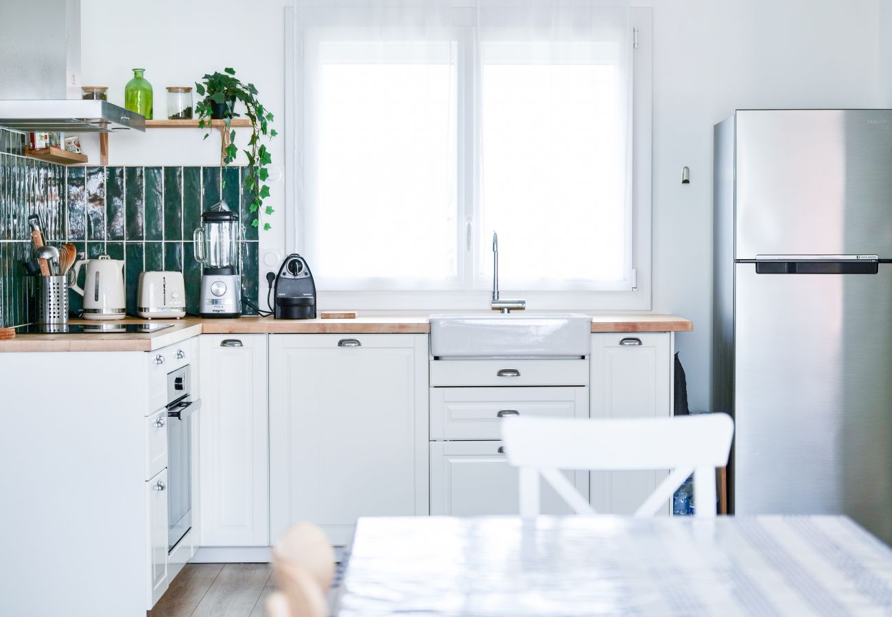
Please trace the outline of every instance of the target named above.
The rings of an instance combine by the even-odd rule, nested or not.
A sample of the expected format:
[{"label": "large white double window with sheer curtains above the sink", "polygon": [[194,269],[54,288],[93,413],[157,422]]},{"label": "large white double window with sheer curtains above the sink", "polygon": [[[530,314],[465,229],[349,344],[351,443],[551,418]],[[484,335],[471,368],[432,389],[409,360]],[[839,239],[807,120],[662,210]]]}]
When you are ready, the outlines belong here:
[{"label": "large white double window with sheer curtains above the sink", "polygon": [[640,15],[595,0],[332,4],[295,6],[286,102],[289,239],[320,291],[475,308],[497,231],[501,288],[531,308],[537,293],[541,308],[649,308]]}]

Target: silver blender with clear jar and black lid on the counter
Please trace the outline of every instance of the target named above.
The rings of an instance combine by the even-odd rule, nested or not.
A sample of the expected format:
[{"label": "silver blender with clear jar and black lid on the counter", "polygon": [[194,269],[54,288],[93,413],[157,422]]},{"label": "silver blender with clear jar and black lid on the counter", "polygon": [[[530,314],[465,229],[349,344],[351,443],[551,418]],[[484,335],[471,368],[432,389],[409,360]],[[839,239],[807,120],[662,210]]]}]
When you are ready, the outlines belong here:
[{"label": "silver blender with clear jar and black lid on the counter", "polygon": [[195,260],[202,264],[202,317],[242,315],[242,282],[238,276],[238,213],[226,202],[202,212],[202,226],[195,229]]}]

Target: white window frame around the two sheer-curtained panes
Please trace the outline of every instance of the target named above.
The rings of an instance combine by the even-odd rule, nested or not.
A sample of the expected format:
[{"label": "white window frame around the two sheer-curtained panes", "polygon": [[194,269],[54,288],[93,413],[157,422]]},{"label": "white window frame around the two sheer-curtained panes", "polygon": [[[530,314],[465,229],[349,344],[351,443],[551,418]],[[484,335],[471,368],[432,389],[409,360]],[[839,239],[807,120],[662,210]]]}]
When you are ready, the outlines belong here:
[{"label": "white window frame around the two sheer-curtained panes", "polygon": [[[632,71],[632,278],[634,287],[623,291],[541,291],[502,289],[503,295],[521,297],[530,310],[650,310],[651,308],[651,151],[652,151],[652,102],[653,102],[653,46],[652,9],[636,7],[630,10],[630,28],[636,29],[633,37]],[[465,29],[467,31],[467,29]],[[459,29],[459,32],[461,29]],[[460,35],[459,35],[460,36]],[[467,36],[467,32],[466,32]],[[302,83],[297,78],[302,62],[299,45],[293,31],[293,8],[285,7],[285,169],[295,169],[301,160],[301,118],[298,102],[302,99]],[[466,53],[470,47],[459,45],[458,53]],[[459,62],[461,64],[461,62]],[[470,71],[465,71],[470,72]],[[467,112],[474,103],[462,96],[462,88],[469,84],[473,75],[458,75],[458,152],[463,152],[463,141],[473,138],[466,128]],[[473,225],[477,214],[474,161],[460,158],[463,167],[458,169],[459,217],[465,218],[465,229],[471,229],[470,259],[468,251],[459,253],[459,278],[475,284],[473,291],[466,290],[418,290],[418,291],[325,291],[319,292],[318,308],[355,308],[364,311],[388,313],[425,312],[437,310],[486,310],[489,308],[490,289],[478,288],[475,281],[475,259],[485,259],[476,254],[481,244],[481,234],[491,230],[476,229]],[[303,213],[300,201],[299,179],[294,173],[285,173],[285,246],[296,247],[301,252],[299,228]],[[462,254],[463,253],[463,254]],[[501,259],[529,259],[530,255],[509,256]],[[310,259],[310,268],[312,261]]]}]

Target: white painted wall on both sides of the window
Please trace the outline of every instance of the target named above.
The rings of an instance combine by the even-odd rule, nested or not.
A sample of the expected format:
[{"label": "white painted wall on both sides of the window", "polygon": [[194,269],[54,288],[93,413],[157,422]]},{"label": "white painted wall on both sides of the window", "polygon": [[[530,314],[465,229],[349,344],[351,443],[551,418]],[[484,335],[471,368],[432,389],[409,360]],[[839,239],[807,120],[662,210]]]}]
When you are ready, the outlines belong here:
[{"label": "white painted wall on both sides of the window", "polygon": [[[83,79],[111,86],[110,100],[121,103],[130,69],[145,67],[156,117],[162,117],[164,86],[233,66],[258,86],[261,100],[278,114],[277,128],[284,128],[285,4],[290,0],[82,0]],[[892,106],[892,0],[633,4],[654,7],[653,308],[693,319],[695,331],[679,334],[677,347],[690,405],[704,409],[712,331],[713,125],[737,108]],[[110,162],[214,164],[218,142],[208,142],[202,144],[197,131],[112,136]],[[278,164],[284,142],[277,138],[271,146]],[[98,159],[98,152],[88,153]],[[690,185],[681,185],[684,165],[691,169]],[[270,203],[278,212],[270,219],[273,231],[261,232],[261,263],[264,250],[289,248],[284,190],[281,182],[272,187]]]}]

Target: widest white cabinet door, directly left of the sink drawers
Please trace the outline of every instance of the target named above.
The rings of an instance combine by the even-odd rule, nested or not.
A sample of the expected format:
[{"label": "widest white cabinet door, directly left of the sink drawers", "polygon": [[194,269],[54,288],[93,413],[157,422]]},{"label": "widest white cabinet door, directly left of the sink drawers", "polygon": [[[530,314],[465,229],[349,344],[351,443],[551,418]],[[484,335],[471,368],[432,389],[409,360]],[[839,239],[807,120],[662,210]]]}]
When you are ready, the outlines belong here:
[{"label": "widest white cabinet door, directly left of the sink drawers", "polygon": [[427,337],[269,337],[270,521],[348,543],[360,516],[427,514]]}]

